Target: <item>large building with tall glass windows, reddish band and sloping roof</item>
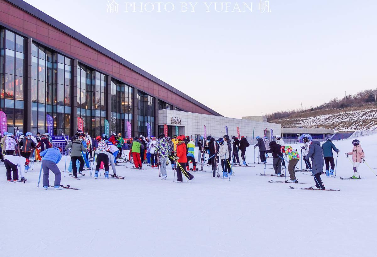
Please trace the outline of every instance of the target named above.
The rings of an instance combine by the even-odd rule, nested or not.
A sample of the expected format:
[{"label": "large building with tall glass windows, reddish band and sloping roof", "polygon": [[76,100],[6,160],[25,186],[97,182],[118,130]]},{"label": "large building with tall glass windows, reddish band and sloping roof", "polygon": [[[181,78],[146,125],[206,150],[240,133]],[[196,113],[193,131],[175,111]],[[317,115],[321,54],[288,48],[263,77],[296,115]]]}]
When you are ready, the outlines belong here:
[{"label": "large building with tall glass windows, reddish band and sloping roof", "polygon": [[92,136],[104,133],[105,121],[124,137],[157,135],[158,110],[221,116],[22,0],[0,0],[0,12],[8,132],[46,132],[52,117],[54,135],[73,135],[80,118]]}]

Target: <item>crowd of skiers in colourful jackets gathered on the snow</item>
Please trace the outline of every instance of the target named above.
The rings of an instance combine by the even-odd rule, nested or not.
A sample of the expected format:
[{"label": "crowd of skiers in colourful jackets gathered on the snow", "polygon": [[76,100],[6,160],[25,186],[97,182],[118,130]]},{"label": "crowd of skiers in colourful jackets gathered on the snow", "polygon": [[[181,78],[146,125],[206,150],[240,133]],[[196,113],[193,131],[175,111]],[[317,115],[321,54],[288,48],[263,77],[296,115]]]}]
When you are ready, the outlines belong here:
[{"label": "crowd of skiers in colourful jackets gathered on the snow", "polygon": [[[95,138],[96,147],[93,146],[92,138],[87,133],[81,131],[78,131],[71,139],[71,142],[67,143],[65,147],[65,150],[70,150],[71,157],[68,171],[73,171],[73,177],[77,178],[78,174],[82,174],[84,166],[90,169],[90,160],[93,159],[93,162],[95,162],[95,179],[98,179],[100,169],[105,170],[105,178],[108,179],[109,165],[113,171],[113,175],[111,176],[116,177],[115,165],[117,165],[117,159],[126,159],[126,156],[123,154],[123,145],[125,143],[130,150],[128,161],[133,160],[136,169],[142,169],[143,164],[150,165],[152,168],[159,167],[162,179],[166,179],[166,167],[168,161],[170,161],[172,169],[177,172],[178,182],[182,182],[182,174],[189,180],[192,180],[194,177],[189,171],[196,171],[196,163],[204,161],[208,161],[207,164],[211,165],[213,174],[215,174],[217,169],[216,162],[221,162],[223,176],[227,177],[228,174],[232,174],[231,167],[233,165],[247,166],[245,156],[247,147],[250,146],[244,136],[241,136],[241,140],[233,136],[231,138],[233,142],[228,135],[218,140],[215,140],[212,136],[208,136],[207,141],[201,139],[197,142],[199,153],[196,161],[195,142],[189,136],[184,135],[174,135],[173,138],[170,138],[161,134],[158,140],[154,136],[149,138],[140,135],[139,137],[127,139],[124,142],[121,134],[116,135],[113,133],[109,138],[107,138],[106,134],[103,134]],[[290,145],[285,145],[280,136],[276,136],[276,141],[271,142],[267,137],[262,139],[260,136],[257,136],[256,139],[257,144],[254,145],[254,149],[259,147],[259,158],[262,164],[266,164],[266,158],[269,157],[268,153],[271,153],[274,171],[277,176],[281,176],[282,167],[286,166],[285,161],[287,161],[287,169],[290,174],[289,182],[298,183],[295,175],[295,168],[300,160],[298,151]],[[52,140],[49,133],[42,135],[37,133],[37,135],[33,136],[32,133],[27,132],[25,135],[18,133],[15,136],[12,133],[5,132],[0,143],[2,147],[0,159],[5,163],[8,182],[26,180],[25,172],[29,168],[32,153],[34,157],[33,161],[43,160],[41,165],[43,169],[43,187],[45,189],[49,187],[48,176],[51,170],[55,174],[55,189],[61,189],[60,170],[57,164],[62,158],[63,150],[58,147],[52,148]],[[301,155],[305,163],[304,170],[311,170],[316,187],[323,189],[324,185],[320,178],[323,166],[325,165],[326,176],[332,176],[335,168],[333,151],[339,153],[339,150],[330,139],[321,146],[318,141],[311,141],[310,138],[304,137],[303,144]],[[346,153],[346,155],[347,157],[352,155],[354,174],[351,178],[358,179],[360,176],[357,168],[364,161],[365,154],[357,139],[352,144],[354,145],[352,151]],[[242,165],[239,160],[239,152],[241,152]],[[206,154],[209,156],[207,159]],[[189,167],[190,163],[192,163],[191,169]],[[18,171],[20,171],[20,179]]]}]

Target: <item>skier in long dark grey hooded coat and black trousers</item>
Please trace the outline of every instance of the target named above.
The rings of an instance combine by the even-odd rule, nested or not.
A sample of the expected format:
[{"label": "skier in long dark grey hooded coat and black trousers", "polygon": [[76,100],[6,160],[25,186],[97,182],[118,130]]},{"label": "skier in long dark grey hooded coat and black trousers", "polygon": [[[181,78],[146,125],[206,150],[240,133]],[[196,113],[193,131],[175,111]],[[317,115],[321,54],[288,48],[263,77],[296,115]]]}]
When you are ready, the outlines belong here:
[{"label": "skier in long dark grey hooded coat and black trousers", "polygon": [[311,162],[313,163],[311,172],[313,173],[314,181],[316,182],[316,187],[319,189],[325,189],[321,180],[321,174],[325,162],[323,161],[323,150],[321,148],[320,142],[311,142],[309,146],[309,151],[304,158],[305,162],[309,162],[309,158],[311,158]]}]

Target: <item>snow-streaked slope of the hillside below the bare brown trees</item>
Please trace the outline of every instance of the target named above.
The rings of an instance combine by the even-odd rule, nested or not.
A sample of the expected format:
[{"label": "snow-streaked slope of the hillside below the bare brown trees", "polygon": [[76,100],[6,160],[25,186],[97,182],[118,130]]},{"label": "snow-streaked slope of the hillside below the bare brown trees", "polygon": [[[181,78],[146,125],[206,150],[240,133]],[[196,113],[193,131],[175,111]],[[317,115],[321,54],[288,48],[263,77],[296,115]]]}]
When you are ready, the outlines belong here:
[{"label": "snow-streaked slope of the hillside below the bare brown trees", "polygon": [[[356,110],[355,110],[356,109]],[[271,122],[282,127],[330,128],[336,132],[368,130],[377,127],[377,109],[323,110],[308,112],[302,117],[279,119]]]}]

